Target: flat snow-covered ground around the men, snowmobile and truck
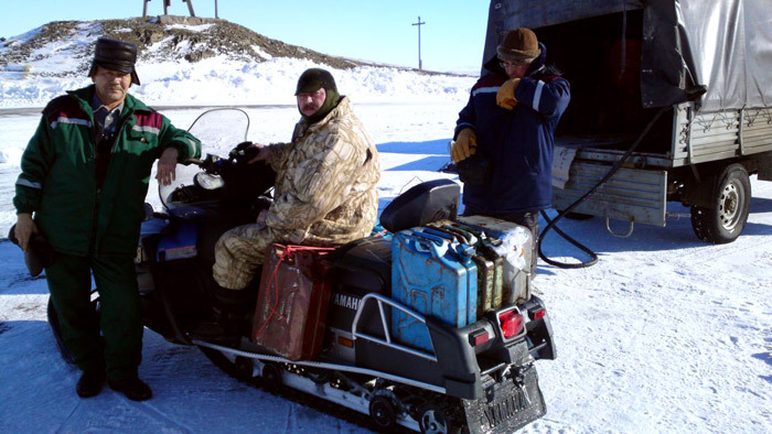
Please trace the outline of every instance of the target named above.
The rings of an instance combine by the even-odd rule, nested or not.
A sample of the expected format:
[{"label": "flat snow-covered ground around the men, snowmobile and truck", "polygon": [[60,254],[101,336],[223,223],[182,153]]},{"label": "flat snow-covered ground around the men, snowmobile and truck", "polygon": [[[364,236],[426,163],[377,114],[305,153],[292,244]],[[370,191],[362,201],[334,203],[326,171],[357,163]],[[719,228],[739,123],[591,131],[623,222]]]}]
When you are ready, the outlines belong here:
[{"label": "flat snow-covered ground around the men, snowmobile and truck", "polygon": [[[291,105],[293,82],[305,66],[288,61],[266,69],[265,83],[283,83],[276,100],[261,99],[261,86],[268,86],[266,95],[275,93],[264,82],[247,87],[255,78],[246,66],[211,79],[202,77],[214,69],[190,70],[167,79],[165,88],[164,79],[151,79],[164,76],[165,66],[143,65],[140,77],[148,87],[135,94],[157,106],[199,104],[195,95],[204,95],[205,105]],[[447,142],[473,79],[453,78],[451,86],[444,78],[389,69],[334,74],[378,143],[382,207],[415,183],[453,177],[437,169],[448,160]],[[362,74],[377,79],[364,83]],[[86,83],[52,79],[45,87],[40,80],[19,78],[9,85],[3,79],[0,106],[41,106]],[[378,85],[423,91],[384,97],[384,102],[373,90]],[[163,110],[178,126],[189,126],[201,111]],[[287,140],[298,118],[292,106],[247,112],[249,139],[264,143]],[[14,220],[13,183],[36,122],[34,110],[0,111],[2,235]],[[698,241],[688,218],[671,219],[665,228],[636,226],[628,239],[609,235],[598,218],[560,224],[598,252],[600,262],[582,270],[539,262],[535,283],[553,318],[558,359],[537,362],[548,413],[525,432],[772,432],[772,183],[753,178],[752,188],[744,234],[726,246]],[[154,188],[150,192],[149,199],[157,202]],[[687,213],[675,205],[671,211]],[[576,253],[554,234],[544,247],[556,259]],[[169,344],[152,332],[146,333],[140,367],[152,400],[136,403],[110,390],[81,400],[74,390],[78,372],[62,361],[49,332],[46,300],[45,281],[29,279],[20,251],[0,240],[0,432],[361,430],[334,414],[244,386],[196,349]]]}]

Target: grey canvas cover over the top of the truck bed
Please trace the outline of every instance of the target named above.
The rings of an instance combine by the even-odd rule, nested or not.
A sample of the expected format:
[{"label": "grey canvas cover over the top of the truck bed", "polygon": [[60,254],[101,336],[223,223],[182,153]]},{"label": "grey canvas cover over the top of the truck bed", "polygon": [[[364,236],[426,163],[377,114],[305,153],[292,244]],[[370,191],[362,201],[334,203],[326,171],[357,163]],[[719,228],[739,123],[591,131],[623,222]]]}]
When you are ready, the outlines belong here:
[{"label": "grey canvas cover over the top of the truck bed", "polygon": [[490,8],[483,64],[511,29],[643,10],[644,107],[685,102],[698,85],[707,87],[700,100],[705,111],[772,104],[769,0],[492,0]]}]

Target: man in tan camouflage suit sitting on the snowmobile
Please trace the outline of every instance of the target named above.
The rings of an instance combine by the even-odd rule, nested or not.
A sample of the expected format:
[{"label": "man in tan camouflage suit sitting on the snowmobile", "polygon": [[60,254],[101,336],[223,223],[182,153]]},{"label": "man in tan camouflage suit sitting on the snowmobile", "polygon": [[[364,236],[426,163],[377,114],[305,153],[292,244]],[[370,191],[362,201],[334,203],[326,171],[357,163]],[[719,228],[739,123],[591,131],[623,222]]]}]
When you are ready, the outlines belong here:
[{"label": "man in tan camouflage suit sitting on the snowmobile", "polygon": [[260,148],[251,161],[276,171],[275,199],[256,224],[225,232],[215,247],[214,279],[240,290],[272,242],[335,246],[366,237],[377,219],[378,151],[332,75],[305,70],[296,91],[302,115],[290,143]]}]

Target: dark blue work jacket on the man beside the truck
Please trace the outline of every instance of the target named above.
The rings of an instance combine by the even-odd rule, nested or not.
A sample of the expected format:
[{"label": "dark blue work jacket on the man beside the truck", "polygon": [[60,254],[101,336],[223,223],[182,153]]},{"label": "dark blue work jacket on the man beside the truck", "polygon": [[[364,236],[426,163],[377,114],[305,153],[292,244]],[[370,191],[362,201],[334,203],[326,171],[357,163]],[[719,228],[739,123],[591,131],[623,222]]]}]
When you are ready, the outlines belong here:
[{"label": "dark blue work jacket on the man beside the truck", "polygon": [[510,78],[494,57],[485,64],[491,73],[472,87],[459,112],[454,137],[473,129],[478,152],[493,161],[489,185],[464,185],[464,205],[491,214],[538,211],[551,205],[555,129],[571,97],[568,82],[545,67],[547,50],[539,46],[540,56],[515,89],[514,110],[496,105],[496,93]]}]

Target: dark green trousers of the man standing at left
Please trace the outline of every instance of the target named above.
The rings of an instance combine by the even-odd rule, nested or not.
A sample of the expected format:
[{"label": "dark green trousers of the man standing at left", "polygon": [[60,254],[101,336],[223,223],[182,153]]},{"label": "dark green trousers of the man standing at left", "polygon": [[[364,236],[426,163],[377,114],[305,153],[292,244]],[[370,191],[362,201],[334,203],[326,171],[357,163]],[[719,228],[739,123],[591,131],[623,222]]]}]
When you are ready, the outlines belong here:
[{"label": "dark green trousers of the man standing at left", "polygon": [[[99,315],[90,303],[92,272],[99,293]],[[45,269],[45,279],[64,345],[77,367],[106,368],[114,381],[136,377],[142,359],[143,327],[132,258],[56,252],[53,265]]]}]

